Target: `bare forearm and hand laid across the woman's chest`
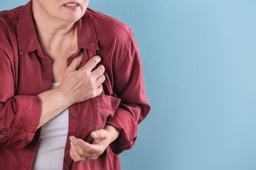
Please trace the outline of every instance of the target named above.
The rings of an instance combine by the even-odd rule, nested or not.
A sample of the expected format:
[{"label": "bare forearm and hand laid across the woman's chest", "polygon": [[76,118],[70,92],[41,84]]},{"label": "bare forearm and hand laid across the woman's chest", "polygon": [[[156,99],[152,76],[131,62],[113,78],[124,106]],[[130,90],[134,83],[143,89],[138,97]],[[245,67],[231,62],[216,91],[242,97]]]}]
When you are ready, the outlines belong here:
[{"label": "bare forearm and hand laid across the woman's chest", "polygon": [[[105,68],[103,65],[96,67],[100,62],[100,56],[94,56],[81,69],[77,69],[82,58],[82,53],[74,58],[70,66],[66,68],[57,88],[38,95],[42,101],[42,114],[37,128],[49,122],[74,103],[92,99],[103,91],[102,82],[105,80],[103,75]],[[94,68],[96,69],[93,70]]]}]

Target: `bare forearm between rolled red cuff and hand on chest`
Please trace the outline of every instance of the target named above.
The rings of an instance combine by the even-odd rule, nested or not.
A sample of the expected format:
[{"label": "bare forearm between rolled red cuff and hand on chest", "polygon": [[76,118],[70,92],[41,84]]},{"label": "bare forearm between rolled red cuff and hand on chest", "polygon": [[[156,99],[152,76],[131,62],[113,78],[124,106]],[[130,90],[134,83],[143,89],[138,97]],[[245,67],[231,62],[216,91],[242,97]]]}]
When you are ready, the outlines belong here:
[{"label": "bare forearm between rolled red cuff and hand on chest", "polygon": [[37,129],[72,105],[72,103],[69,103],[68,99],[66,99],[60,88],[47,90],[40,93],[38,96],[42,101],[42,113]]}]

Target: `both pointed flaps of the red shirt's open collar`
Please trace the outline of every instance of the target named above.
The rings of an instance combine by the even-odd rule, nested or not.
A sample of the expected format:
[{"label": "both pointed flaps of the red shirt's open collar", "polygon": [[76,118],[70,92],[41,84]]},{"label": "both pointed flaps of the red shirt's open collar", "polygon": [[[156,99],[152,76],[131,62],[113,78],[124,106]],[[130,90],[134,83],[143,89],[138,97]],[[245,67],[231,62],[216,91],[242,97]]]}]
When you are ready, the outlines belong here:
[{"label": "both pointed flaps of the red shirt's open collar", "polygon": [[[78,48],[98,50],[95,26],[89,10],[86,10],[84,16],[77,21],[77,44]],[[20,55],[41,49],[33,22],[32,1],[24,5],[20,13],[18,23],[18,47]]]}]

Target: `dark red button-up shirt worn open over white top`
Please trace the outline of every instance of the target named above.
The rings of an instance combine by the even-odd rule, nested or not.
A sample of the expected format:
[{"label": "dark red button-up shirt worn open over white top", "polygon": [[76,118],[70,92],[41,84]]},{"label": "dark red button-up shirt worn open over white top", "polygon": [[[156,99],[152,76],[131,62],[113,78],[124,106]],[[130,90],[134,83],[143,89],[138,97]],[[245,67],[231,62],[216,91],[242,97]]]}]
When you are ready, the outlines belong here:
[{"label": "dark red button-up shirt worn open over white top", "polygon": [[[68,108],[63,169],[117,170],[118,154],[133,147],[138,124],[150,110],[139,50],[130,27],[91,9],[77,21],[77,37],[79,50],[68,64],[80,50],[81,67],[98,54],[106,80],[102,95]],[[0,169],[31,169],[40,135],[42,104],[37,94],[51,89],[52,67],[37,41],[32,2],[0,12]],[[97,160],[72,161],[68,138],[91,143],[91,131],[106,124],[121,133],[118,139]]]}]

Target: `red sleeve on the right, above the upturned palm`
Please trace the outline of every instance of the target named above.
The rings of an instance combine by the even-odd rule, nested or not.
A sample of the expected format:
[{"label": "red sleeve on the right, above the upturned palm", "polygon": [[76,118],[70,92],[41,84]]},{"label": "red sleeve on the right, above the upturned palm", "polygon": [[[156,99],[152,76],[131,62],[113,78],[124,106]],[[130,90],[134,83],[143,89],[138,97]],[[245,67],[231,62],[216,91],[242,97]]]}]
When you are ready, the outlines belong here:
[{"label": "red sleeve on the right, above the upturned palm", "polygon": [[132,32],[130,35],[127,48],[114,71],[114,93],[121,99],[121,104],[107,122],[120,133],[119,138],[110,144],[116,154],[134,146],[138,125],[150,111],[139,48]]}]

